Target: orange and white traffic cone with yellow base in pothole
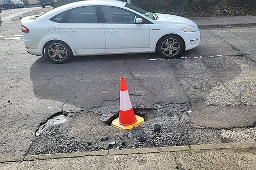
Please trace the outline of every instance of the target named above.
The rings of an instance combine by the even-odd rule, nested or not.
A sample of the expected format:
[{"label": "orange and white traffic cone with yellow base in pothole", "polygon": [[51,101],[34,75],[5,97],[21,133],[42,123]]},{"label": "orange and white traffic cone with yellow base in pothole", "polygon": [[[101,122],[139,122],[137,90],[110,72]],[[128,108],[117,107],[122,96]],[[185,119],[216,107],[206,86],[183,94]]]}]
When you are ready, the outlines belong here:
[{"label": "orange and white traffic cone with yellow base in pothole", "polygon": [[140,126],[144,119],[134,114],[124,77],[120,78],[120,112],[119,117],[112,121],[111,126],[130,130]]}]

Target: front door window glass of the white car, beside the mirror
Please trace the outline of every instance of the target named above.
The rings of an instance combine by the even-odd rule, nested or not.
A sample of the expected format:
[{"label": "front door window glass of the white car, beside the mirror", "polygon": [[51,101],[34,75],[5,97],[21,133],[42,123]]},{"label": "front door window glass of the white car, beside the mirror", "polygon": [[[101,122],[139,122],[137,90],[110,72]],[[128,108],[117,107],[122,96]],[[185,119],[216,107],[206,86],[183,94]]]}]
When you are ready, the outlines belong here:
[{"label": "front door window glass of the white car, beside the mirror", "polygon": [[136,14],[115,7],[102,7],[106,23],[135,23]]}]

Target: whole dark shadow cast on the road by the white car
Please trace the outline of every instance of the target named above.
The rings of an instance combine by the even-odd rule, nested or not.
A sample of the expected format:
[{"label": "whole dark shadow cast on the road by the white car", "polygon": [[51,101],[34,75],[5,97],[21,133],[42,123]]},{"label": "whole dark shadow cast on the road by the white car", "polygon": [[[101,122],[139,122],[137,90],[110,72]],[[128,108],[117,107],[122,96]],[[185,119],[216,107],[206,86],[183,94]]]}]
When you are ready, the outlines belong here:
[{"label": "whole dark shadow cast on the road by the white car", "polygon": [[[196,51],[185,52],[183,58],[175,60],[159,59],[156,54],[87,56],[73,57],[65,64],[53,64],[44,56],[31,65],[30,79],[36,98],[90,109],[119,99],[120,76],[132,87],[130,94],[153,96],[154,91],[163,101],[182,103],[186,100],[182,86],[186,86],[187,81],[196,84],[197,92],[207,91],[241,73],[232,57],[196,56]],[[185,84],[181,81],[183,77]],[[190,77],[191,80],[187,79]],[[195,79],[199,84],[202,79],[202,88],[198,88]],[[165,93],[166,90],[173,92]],[[173,95],[174,92],[177,95]]]}]

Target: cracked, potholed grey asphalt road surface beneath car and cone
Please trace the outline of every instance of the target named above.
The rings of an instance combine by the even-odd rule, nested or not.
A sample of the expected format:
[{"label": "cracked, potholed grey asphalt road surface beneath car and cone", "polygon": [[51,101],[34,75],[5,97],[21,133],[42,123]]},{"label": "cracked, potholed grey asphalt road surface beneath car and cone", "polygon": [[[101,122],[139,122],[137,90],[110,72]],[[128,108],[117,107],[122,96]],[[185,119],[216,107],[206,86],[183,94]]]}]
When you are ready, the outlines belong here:
[{"label": "cracked, potholed grey asphalt road surface beneath car and cone", "polygon": [[[4,40],[22,35],[13,19],[0,27],[0,157],[255,142],[255,30],[202,29],[200,46],[180,59],[111,55],[56,65],[27,54],[22,39]],[[109,126],[118,116],[120,76],[146,120],[131,131]],[[65,122],[48,124],[55,115]]]}]

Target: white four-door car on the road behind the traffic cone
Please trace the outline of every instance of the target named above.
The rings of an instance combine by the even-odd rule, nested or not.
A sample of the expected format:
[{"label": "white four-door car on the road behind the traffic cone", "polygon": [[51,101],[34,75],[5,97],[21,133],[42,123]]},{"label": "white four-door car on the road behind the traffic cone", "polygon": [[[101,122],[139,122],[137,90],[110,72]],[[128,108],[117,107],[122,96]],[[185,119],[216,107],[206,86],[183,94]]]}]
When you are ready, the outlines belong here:
[{"label": "white four-door car on the road behind the traffic cone", "polygon": [[199,45],[195,22],[121,1],[80,1],[22,19],[28,53],[65,63],[72,56],[154,53],[173,59]]}]

